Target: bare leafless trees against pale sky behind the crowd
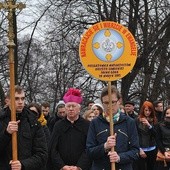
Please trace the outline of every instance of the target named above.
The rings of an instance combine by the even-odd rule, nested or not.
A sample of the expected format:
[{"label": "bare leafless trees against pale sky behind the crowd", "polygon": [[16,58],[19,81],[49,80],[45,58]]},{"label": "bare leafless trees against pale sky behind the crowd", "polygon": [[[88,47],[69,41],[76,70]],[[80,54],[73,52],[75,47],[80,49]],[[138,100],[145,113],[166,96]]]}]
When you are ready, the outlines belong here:
[{"label": "bare leafless trees against pale sky behind the crowd", "polygon": [[[105,20],[126,26],[138,45],[132,71],[112,82],[120,88],[123,101],[131,99],[140,105],[144,100],[169,100],[168,0],[44,0],[32,4],[27,4],[29,10],[18,21],[18,80],[27,89],[29,101],[50,101],[54,110],[69,87],[81,88],[85,101],[98,98],[107,82],[93,78],[83,68],[79,42],[89,26]],[[22,20],[23,15],[28,19]],[[0,53],[6,55],[7,51]],[[6,63],[4,58],[0,62]],[[7,73],[8,69],[0,68],[2,86]]]}]

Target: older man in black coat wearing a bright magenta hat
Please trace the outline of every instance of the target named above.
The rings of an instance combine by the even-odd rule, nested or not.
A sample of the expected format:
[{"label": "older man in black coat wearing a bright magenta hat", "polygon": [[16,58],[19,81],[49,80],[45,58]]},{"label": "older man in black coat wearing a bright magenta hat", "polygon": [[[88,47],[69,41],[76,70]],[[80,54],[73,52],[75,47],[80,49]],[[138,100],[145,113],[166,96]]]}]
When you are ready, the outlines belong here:
[{"label": "older man in black coat wearing a bright magenta hat", "polygon": [[89,121],[80,114],[83,100],[79,89],[70,88],[63,97],[66,117],[58,121],[49,144],[49,170],[89,170],[91,161],[86,154]]}]

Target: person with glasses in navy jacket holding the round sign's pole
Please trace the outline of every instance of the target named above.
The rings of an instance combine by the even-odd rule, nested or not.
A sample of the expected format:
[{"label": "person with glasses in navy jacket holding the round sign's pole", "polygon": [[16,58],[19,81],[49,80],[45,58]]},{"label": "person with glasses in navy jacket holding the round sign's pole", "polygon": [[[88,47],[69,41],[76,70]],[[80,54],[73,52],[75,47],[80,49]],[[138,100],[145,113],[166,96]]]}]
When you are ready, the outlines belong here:
[{"label": "person with glasses in navy jacket holding the round sign's pole", "polygon": [[[87,136],[87,153],[92,170],[109,170],[115,163],[116,170],[132,170],[132,163],[138,159],[139,141],[135,122],[119,109],[121,95],[115,86],[111,88],[114,135],[110,136],[108,88],[101,93],[104,113],[91,121]],[[115,151],[111,148],[115,147]]]}]

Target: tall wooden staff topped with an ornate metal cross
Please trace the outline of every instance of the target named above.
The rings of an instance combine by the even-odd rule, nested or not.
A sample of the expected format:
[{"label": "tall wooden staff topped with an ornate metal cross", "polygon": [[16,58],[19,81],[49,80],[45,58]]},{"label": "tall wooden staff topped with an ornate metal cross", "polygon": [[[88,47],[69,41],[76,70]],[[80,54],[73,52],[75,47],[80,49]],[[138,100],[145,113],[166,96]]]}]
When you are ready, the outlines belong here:
[{"label": "tall wooden staff topped with an ornate metal cross", "polygon": [[[13,31],[13,13],[15,9],[23,9],[25,7],[24,4],[19,3],[15,4],[15,1],[8,0],[5,3],[0,3],[0,9],[5,8],[8,11],[8,44],[7,47],[9,49],[9,71],[10,71],[10,100],[11,100],[11,121],[16,121],[16,111],[15,111],[15,74],[14,74],[14,31]],[[16,161],[18,159],[17,153],[17,132],[12,134],[12,159]]]}]

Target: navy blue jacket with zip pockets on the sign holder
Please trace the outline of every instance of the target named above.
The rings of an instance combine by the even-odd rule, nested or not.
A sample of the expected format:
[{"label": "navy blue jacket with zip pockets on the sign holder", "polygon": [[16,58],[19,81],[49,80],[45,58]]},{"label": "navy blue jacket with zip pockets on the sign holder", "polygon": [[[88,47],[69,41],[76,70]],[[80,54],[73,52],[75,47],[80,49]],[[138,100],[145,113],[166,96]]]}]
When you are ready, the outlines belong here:
[{"label": "navy blue jacket with zip pockets on the sign holder", "polygon": [[[114,123],[114,133],[117,133],[115,151],[120,156],[116,163],[116,170],[132,170],[132,163],[138,159],[139,140],[135,121],[124,113],[120,114],[119,121]],[[104,143],[110,136],[109,122],[99,115],[90,123],[87,136],[87,153],[93,160],[92,170],[109,170],[111,163]]]}]

